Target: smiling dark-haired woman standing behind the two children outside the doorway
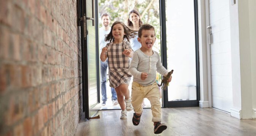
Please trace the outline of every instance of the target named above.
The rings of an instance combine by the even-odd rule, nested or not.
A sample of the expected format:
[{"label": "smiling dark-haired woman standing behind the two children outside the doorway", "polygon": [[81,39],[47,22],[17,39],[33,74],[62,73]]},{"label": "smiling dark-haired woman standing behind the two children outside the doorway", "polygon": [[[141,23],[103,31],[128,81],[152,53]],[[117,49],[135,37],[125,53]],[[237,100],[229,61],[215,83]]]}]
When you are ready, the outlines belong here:
[{"label": "smiling dark-haired woman standing behind the two children outside the doorway", "polygon": [[[138,31],[140,26],[142,26],[142,20],[140,19],[140,14],[137,10],[133,9],[129,12],[129,19],[127,20],[127,26],[134,30]],[[130,39],[130,45],[133,51],[139,49],[142,45],[138,42],[138,35],[136,35],[133,39]]]}]

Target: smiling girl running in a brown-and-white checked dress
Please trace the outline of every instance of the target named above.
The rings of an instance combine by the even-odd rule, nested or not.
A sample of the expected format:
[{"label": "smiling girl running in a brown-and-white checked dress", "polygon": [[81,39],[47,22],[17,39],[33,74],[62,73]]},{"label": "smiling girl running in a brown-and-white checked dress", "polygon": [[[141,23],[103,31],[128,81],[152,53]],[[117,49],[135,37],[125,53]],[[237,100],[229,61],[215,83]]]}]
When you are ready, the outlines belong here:
[{"label": "smiling girl running in a brown-and-white checked dress", "polygon": [[132,77],[129,72],[130,58],[133,56],[129,40],[134,38],[134,35],[134,31],[124,23],[114,22],[110,33],[105,37],[105,41],[110,41],[110,43],[102,48],[100,54],[102,62],[108,58],[110,87],[115,88],[117,100],[122,109],[120,119],[127,119],[127,111],[133,109],[128,85]]}]

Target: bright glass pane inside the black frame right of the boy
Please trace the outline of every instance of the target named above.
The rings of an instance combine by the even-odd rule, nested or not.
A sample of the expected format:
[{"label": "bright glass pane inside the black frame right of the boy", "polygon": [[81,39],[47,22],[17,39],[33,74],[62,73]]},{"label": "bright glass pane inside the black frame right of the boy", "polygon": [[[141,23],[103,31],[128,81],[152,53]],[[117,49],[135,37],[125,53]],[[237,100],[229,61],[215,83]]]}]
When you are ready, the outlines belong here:
[{"label": "bright glass pane inside the black frame right of the boy", "polygon": [[168,101],[196,100],[196,46],[193,0],[165,0],[167,68],[174,70]]}]

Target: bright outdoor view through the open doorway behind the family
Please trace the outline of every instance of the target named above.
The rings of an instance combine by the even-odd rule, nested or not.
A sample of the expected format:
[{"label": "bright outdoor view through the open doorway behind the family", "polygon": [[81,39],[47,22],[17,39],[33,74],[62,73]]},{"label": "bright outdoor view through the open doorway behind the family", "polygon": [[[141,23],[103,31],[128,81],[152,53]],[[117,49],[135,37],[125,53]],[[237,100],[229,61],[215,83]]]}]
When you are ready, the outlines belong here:
[{"label": "bright outdoor view through the open doorway behind the family", "polygon": [[[125,0],[125,1],[98,0],[98,2],[99,2],[98,3],[99,29],[103,26],[101,23],[101,20],[102,20],[101,15],[103,15],[104,13],[109,14],[111,17],[110,26],[112,25],[112,23],[114,23],[114,21],[117,21],[117,20],[120,20],[127,25],[127,20],[129,19],[129,12],[132,9],[136,9],[140,14],[140,19],[142,20],[143,24],[149,23],[150,25],[154,26],[156,31],[156,42],[153,46],[153,50],[157,51],[161,55],[161,30],[160,30],[160,13],[159,13],[160,8],[159,8],[158,0]],[[99,32],[99,35],[100,35],[100,32]],[[100,52],[101,50],[99,51],[99,53]],[[157,76],[157,77],[160,77],[160,79],[158,78],[158,80],[161,80],[161,76]],[[130,81],[129,90],[131,94],[132,80]],[[107,79],[107,96],[108,96],[107,105],[111,105],[111,90],[109,87],[108,79]],[[161,103],[162,103],[162,100],[161,100]],[[151,107],[148,99],[145,99],[144,107]]]}]

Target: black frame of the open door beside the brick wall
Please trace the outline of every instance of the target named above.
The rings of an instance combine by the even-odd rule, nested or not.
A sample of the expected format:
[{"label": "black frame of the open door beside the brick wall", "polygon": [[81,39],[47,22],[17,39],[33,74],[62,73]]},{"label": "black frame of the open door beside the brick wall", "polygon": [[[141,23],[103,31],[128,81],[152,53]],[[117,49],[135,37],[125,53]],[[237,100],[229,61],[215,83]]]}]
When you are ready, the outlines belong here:
[{"label": "black frame of the open door beside the brick wall", "polygon": [[[87,19],[86,19],[86,2],[87,0],[78,0],[78,26],[81,26],[81,63],[82,63],[82,105],[83,105],[83,112],[86,119],[90,119],[90,106],[89,106],[89,81],[88,81],[88,50],[87,50]],[[98,24],[98,7],[97,7],[97,0],[92,0],[94,3],[93,10],[93,17],[94,18],[94,25]],[[95,46],[96,46],[96,68],[97,68],[97,103],[91,105],[91,109],[95,107],[97,104],[100,103],[100,91],[99,91],[99,47],[98,47],[98,27],[95,27]],[[97,109],[94,109],[97,112]]]}]

